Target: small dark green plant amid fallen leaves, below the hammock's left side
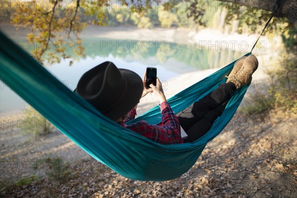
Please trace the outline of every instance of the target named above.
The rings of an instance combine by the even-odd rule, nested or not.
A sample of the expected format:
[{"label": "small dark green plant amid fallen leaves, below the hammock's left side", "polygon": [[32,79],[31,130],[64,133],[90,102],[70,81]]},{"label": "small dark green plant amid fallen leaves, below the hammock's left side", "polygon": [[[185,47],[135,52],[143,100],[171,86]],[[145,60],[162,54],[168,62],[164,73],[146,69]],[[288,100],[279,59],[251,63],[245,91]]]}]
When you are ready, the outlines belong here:
[{"label": "small dark green plant amid fallen leaves, below the hammock's left side", "polygon": [[67,160],[60,157],[45,158],[35,161],[34,169],[42,168],[50,180],[62,184],[71,175],[70,164]]}]

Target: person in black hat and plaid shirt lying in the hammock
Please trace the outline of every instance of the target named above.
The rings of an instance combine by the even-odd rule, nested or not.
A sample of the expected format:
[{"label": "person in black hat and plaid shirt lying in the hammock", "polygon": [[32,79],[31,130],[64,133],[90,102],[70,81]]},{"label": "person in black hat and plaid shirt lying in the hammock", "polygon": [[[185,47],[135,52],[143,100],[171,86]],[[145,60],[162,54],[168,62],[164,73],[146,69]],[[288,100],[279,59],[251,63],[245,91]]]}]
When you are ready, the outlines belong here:
[{"label": "person in black hat and plaid shirt lying in the hammock", "polygon": [[[251,82],[251,75],[257,67],[258,61],[254,55],[241,57],[226,76],[226,83],[176,115],[166,100],[159,79],[156,86],[151,84],[150,89],[146,89],[145,77],[142,80],[135,72],[118,69],[111,62],[104,62],[86,72],[75,92],[105,116],[152,141],[160,144],[189,143],[207,133],[224,111],[234,91]],[[160,101],[162,121],[149,124],[141,120],[125,124],[135,118],[139,100],[150,92]],[[182,140],[180,126],[188,134],[187,139]]]}]

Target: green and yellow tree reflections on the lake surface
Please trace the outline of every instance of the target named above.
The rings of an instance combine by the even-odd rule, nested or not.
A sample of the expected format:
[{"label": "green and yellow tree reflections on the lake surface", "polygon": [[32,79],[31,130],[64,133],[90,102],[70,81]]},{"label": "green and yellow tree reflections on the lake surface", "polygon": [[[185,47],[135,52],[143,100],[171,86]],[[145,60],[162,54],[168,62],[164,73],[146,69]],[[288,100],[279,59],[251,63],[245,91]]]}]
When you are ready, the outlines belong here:
[{"label": "green and yellow tree reflections on the lake surface", "polygon": [[[122,58],[127,62],[146,65],[162,65],[176,73],[222,67],[247,51],[215,50],[199,48],[197,44],[177,44],[168,42],[147,42],[135,40],[110,40],[104,38],[83,38],[87,57]],[[72,49],[66,48],[74,60],[81,61]]]}]

